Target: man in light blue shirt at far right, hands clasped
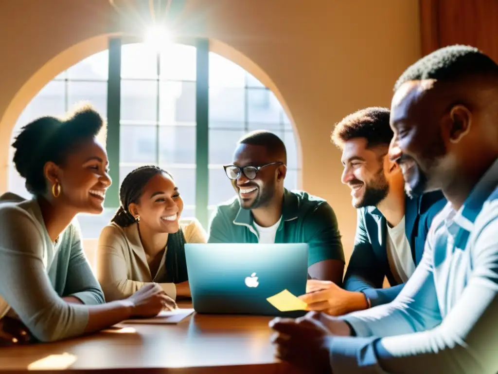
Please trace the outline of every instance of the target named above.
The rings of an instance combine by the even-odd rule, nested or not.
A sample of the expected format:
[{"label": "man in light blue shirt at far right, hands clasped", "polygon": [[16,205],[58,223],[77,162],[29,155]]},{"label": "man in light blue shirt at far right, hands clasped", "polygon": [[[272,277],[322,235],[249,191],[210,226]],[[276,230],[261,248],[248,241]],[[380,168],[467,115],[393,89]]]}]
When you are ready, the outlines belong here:
[{"label": "man in light blue shirt at far right, hands clasped", "polygon": [[449,46],[394,89],[389,157],[410,193],[441,189],[448,204],[394,301],[273,320],[277,352],[319,373],[498,373],[498,65]]}]

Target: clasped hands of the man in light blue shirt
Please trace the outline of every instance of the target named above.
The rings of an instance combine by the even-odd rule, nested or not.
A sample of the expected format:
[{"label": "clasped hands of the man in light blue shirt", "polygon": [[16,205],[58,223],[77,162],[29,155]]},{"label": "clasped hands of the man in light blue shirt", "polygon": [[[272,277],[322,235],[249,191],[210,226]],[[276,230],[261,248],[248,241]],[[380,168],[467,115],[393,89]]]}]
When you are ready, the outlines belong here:
[{"label": "clasped hands of the man in light blue shirt", "polygon": [[275,331],[272,343],[276,356],[310,373],[332,373],[327,340],[331,339],[327,328],[313,318],[281,319],[269,323]]}]

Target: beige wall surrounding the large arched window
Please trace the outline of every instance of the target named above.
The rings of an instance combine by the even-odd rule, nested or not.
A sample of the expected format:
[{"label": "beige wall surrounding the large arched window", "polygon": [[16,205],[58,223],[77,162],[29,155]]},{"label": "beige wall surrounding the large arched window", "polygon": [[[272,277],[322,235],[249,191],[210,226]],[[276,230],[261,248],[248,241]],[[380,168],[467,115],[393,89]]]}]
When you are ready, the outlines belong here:
[{"label": "beige wall surrounding the large arched window", "polygon": [[[419,57],[418,11],[418,0],[187,0],[172,19],[177,35],[217,41],[218,53],[276,91],[300,139],[302,187],[335,209],[347,257],[356,213],[329,135],[348,113],[389,105],[395,79]],[[0,192],[24,106],[57,73],[105,49],[106,35],[141,32],[131,19],[107,0],[0,1]]]}]

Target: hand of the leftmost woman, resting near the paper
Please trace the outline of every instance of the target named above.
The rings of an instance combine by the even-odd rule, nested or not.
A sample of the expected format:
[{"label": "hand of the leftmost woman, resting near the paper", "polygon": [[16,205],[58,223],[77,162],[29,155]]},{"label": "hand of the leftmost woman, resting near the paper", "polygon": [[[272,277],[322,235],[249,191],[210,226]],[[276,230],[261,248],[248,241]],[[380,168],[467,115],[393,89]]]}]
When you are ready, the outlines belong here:
[{"label": "hand of the leftmost woman, resting near the paper", "polygon": [[131,301],[131,316],[151,318],[162,310],[176,309],[176,303],[156,283],[147,284],[128,297]]}]

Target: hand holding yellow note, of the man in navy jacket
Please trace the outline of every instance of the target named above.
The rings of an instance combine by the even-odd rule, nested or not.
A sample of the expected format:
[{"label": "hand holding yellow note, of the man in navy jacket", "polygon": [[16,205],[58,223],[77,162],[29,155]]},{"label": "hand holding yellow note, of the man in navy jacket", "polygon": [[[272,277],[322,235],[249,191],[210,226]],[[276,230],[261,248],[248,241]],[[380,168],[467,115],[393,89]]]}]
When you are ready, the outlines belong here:
[{"label": "hand holding yellow note, of the man in navy jacket", "polygon": [[346,291],[330,281],[308,280],[306,294],[299,296],[299,299],[308,304],[307,310],[320,311],[331,316],[342,316],[368,308],[363,293]]}]

